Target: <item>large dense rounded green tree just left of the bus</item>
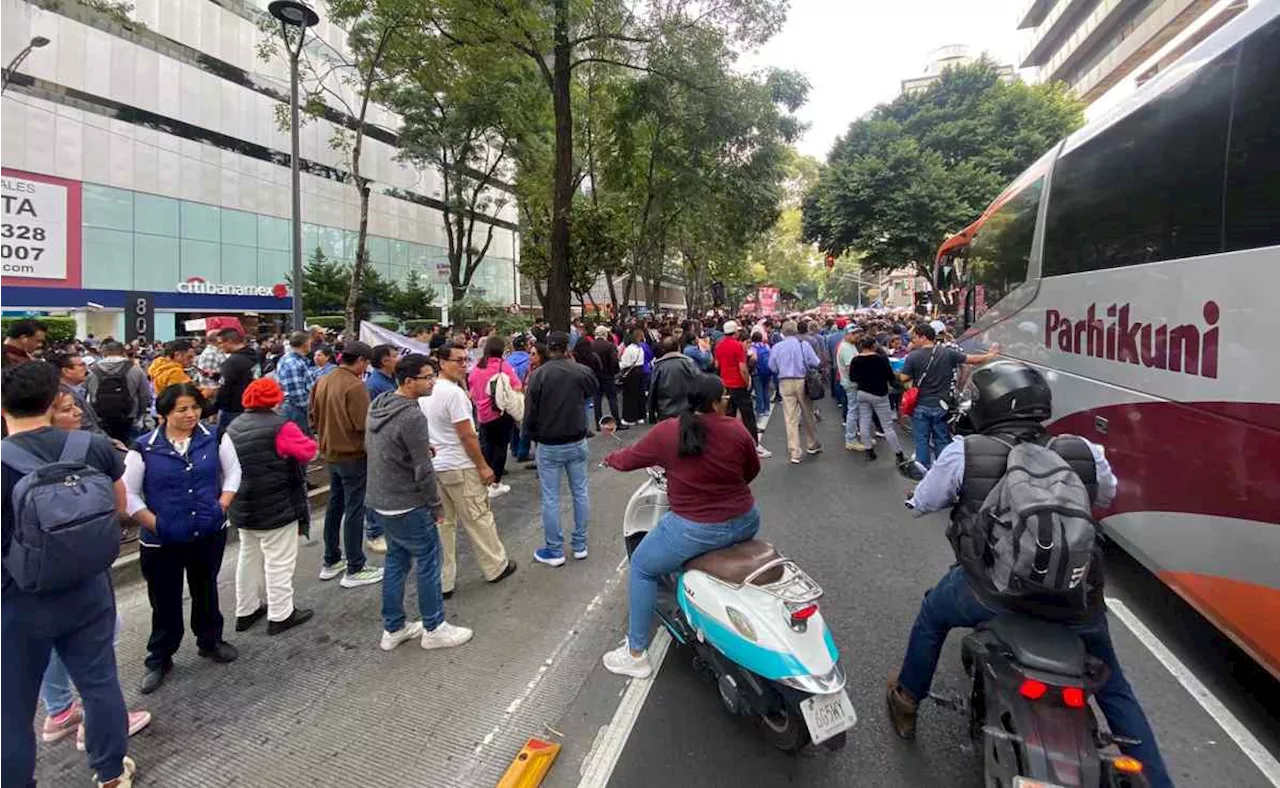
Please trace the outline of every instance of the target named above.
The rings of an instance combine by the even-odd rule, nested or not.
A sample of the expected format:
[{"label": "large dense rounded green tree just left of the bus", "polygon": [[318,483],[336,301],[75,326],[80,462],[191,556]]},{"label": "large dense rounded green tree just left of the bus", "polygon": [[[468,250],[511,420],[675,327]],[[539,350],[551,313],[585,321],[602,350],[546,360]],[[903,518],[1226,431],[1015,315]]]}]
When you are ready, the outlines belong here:
[{"label": "large dense rounded green tree just left of the bus", "polygon": [[804,238],[861,253],[864,271],[932,276],[938,244],[1083,122],[1060,83],[1005,82],[986,58],[946,69],[849,127],[804,197]]}]

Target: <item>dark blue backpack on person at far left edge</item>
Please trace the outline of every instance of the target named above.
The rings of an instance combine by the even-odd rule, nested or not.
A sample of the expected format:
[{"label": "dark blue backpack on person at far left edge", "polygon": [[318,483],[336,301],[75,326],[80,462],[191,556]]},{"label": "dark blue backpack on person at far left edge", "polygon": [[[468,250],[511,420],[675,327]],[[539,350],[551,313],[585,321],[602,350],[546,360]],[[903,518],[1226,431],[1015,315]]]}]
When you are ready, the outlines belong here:
[{"label": "dark blue backpack on person at far left edge", "polygon": [[46,462],[0,441],[0,462],[23,475],[13,489],[13,539],[4,568],[19,590],[49,594],[106,572],[120,554],[115,482],[86,464],[91,435],[67,434]]}]

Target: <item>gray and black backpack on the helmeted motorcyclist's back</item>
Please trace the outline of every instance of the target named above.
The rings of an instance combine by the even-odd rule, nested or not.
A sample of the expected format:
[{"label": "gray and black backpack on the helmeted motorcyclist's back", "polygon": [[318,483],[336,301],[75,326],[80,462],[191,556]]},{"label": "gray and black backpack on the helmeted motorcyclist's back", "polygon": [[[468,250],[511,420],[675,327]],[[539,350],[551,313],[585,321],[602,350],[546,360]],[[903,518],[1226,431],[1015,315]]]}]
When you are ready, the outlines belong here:
[{"label": "gray and black backpack on the helmeted motorcyclist's back", "polygon": [[1011,445],[974,521],[986,530],[988,579],[1001,594],[1078,594],[1089,573],[1097,541],[1089,492],[1050,446]]}]

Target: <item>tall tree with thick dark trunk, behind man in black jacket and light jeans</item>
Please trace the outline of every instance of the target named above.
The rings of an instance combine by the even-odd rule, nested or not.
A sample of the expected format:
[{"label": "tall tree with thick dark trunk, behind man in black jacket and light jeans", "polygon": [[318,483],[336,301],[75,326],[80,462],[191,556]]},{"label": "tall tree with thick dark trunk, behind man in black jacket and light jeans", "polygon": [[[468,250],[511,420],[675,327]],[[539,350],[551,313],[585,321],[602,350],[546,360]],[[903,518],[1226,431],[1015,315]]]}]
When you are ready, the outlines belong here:
[{"label": "tall tree with thick dark trunk, behind man in black jacket and light jeans", "polygon": [[545,311],[556,329],[568,327],[570,219],[576,191],[572,86],[579,68],[598,63],[653,72],[649,56],[664,37],[713,31],[758,45],[781,27],[783,0],[663,0],[634,6],[625,0],[425,0],[433,27],[463,47],[497,47],[526,58],[549,93],[553,156]]}]

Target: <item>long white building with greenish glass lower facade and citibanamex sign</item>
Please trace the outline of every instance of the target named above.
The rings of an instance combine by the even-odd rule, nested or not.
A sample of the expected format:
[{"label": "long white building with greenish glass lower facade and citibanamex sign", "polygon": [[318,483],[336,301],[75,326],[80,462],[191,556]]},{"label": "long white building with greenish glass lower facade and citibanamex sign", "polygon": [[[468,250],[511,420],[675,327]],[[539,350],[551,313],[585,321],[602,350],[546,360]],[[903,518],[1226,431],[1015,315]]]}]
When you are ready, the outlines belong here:
[{"label": "long white building with greenish glass lower facade and citibanamex sign", "polygon": [[[157,339],[182,334],[186,316],[287,316],[289,136],[276,107],[288,65],[257,56],[265,6],[138,0],[125,24],[74,3],[0,4],[0,60],[50,40],[0,97],[0,235],[13,235],[0,238],[0,311],[72,313],[86,333],[122,336],[125,294],[151,293]],[[316,58],[344,46],[325,19],[308,33]],[[302,248],[351,262],[360,202],[329,139],[355,119],[339,106],[300,130]],[[396,281],[416,271],[447,306],[439,178],[396,161],[394,114],[374,106],[366,120],[369,264]],[[500,197],[476,226],[493,242],[472,292],[506,306],[520,292],[518,237],[515,202]]]}]

